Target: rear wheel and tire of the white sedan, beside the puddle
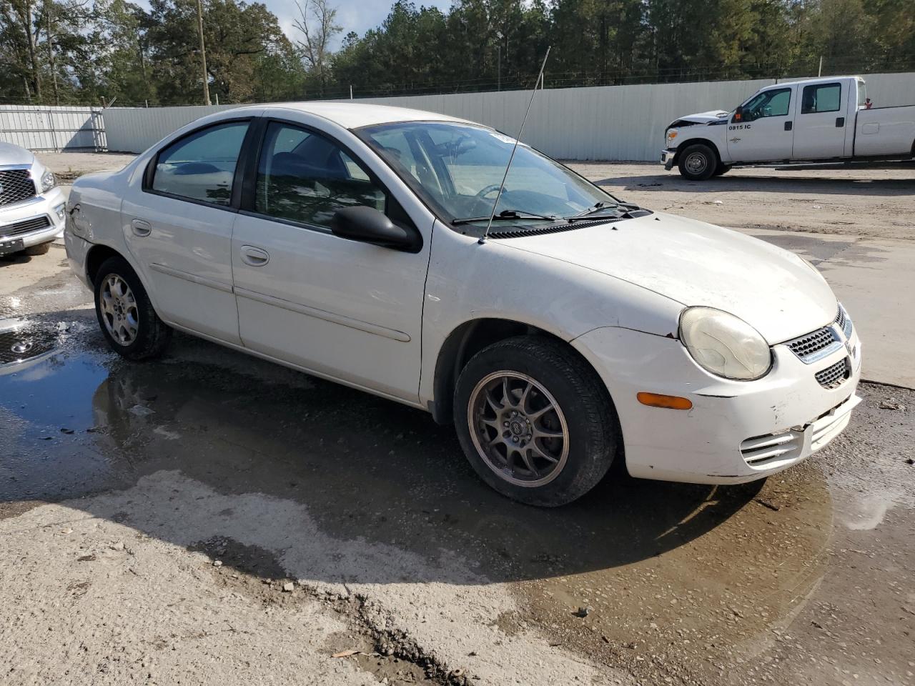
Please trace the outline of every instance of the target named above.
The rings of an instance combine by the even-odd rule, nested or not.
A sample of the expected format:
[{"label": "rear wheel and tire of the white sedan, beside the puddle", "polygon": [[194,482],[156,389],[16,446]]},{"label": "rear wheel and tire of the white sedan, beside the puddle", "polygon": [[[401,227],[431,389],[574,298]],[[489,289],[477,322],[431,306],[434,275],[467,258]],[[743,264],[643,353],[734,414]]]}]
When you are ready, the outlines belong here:
[{"label": "rear wheel and tire of the white sedan, beside the puddle", "polygon": [[172,330],[156,315],[130,264],[123,257],[108,258],[93,283],[95,316],[108,345],[126,359],[150,359],[162,354]]}]

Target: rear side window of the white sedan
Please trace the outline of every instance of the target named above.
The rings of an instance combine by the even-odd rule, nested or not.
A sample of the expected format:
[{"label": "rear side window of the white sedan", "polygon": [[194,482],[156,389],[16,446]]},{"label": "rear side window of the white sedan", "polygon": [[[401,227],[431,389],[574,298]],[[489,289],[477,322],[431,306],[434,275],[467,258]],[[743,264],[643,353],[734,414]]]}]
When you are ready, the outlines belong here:
[{"label": "rear side window of the white sedan", "polygon": [[153,190],[228,205],[235,166],[247,131],[247,122],[223,123],[169,145],[156,159]]}]

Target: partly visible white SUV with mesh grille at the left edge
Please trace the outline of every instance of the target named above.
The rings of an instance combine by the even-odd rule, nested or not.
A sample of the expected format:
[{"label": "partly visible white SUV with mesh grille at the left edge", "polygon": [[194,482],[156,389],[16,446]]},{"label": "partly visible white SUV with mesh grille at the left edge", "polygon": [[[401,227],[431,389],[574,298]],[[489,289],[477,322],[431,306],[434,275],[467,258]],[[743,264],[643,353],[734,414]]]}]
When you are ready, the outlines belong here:
[{"label": "partly visible white SUV with mesh grille at the left edge", "polygon": [[67,198],[51,171],[18,145],[0,143],[0,255],[42,255],[63,236]]}]

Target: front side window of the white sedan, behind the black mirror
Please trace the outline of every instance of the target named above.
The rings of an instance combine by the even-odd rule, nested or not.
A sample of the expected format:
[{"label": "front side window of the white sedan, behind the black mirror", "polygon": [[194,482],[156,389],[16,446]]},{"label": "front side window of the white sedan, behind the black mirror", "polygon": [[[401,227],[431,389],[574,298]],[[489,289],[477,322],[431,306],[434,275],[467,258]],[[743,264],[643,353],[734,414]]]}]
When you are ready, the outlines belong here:
[{"label": "front side window of the white sedan, behind the black mirror", "polygon": [[254,209],[278,219],[330,227],[354,205],[385,209],[385,194],[339,145],[291,124],[267,127],[257,166]]}]

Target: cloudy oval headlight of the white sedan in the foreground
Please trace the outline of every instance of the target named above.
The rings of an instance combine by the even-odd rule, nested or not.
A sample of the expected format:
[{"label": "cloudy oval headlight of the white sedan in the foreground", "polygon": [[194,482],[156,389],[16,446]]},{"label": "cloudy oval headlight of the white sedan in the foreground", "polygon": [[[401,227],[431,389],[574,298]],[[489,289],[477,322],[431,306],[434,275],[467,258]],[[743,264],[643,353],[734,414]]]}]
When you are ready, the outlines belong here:
[{"label": "cloudy oval headlight of the white sedan in the foreground", "polygon": [[704,370],[737,381],[769,373],[772,351],[755,328],[714,307],[688,307],[680,316],[680,340]]}]

